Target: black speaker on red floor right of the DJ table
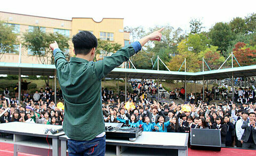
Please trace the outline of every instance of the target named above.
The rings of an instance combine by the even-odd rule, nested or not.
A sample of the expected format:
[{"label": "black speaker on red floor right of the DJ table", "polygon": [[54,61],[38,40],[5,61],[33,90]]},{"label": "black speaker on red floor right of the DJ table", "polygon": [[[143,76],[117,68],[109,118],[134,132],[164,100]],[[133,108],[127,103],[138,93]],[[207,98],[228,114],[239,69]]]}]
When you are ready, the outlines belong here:
[{"label": "black speaker on red floor right of the DJ table", "polygon": [[191,129],[190,148],[220,151],[221,131],[218,129]]}]

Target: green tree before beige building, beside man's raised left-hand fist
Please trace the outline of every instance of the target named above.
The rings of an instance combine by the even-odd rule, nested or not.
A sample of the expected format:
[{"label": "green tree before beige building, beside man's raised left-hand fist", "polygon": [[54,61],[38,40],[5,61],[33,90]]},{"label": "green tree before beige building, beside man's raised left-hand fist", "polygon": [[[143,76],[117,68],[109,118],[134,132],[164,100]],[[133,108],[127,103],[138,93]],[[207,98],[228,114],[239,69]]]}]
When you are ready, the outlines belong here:
[{"label": "green tree before beige building, beside man's raised left-hand fist", "polygon": [[24,45],[29,48],[42,64],[54,64],[53,52],[49,45],[57,41],[59,48],[63,51],[69,48],[69,38],[58,33],[46,33],[35,28],[32,32],[23,35]]}]

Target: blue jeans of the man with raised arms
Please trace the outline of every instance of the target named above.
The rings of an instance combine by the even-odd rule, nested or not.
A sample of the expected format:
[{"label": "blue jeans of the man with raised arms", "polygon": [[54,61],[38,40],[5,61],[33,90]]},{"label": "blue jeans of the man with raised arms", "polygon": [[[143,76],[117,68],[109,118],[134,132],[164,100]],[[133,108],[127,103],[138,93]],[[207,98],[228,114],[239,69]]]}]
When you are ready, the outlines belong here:
[{"label": "blue jeans of the man with raised arms", "polygon": [[105,155],[106,136],[90,141],[68,140],[69,156]]}]

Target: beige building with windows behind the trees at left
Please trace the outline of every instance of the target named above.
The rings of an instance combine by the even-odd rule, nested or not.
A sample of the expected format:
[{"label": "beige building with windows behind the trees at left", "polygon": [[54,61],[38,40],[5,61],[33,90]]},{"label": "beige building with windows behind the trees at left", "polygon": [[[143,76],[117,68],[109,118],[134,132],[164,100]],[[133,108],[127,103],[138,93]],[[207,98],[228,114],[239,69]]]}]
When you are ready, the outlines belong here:
[{"label": "beige building with windows behind the trees at left", "polygon": [[[56,19],[24,14],[16,14],[0,11],[0,20],[14,27],[13,32],[18,34],[18,40],[26,31],[33,31],[35,27],[40,27],[41,31],[58,32],[69,38],[82,30],[92,32],[97,38],[116,42],[125,46],[129,44],[130,33],[123,32],[123,18],[103,18],[100,22],[93,18],[72,18],[72,20]],[[71,39],[70,39],[71,40]],[[15,50],[3,55],[0,62],[18,62],[19,43],[15,43]],[[73,45],[70,41],[70,49],[62,50],[73,56]],[[40,64],[37,57],[30,49],[22,46],[22,63]]]}]

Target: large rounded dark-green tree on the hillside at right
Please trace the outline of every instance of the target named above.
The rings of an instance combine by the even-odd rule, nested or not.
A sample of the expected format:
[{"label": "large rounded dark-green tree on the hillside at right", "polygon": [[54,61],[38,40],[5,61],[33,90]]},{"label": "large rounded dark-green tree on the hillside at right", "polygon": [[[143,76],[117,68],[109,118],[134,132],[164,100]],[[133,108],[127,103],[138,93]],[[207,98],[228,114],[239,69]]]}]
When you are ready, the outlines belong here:
[{"label": "large rounded dark-green tree on the hillside at right", "polygon": [[234,35],[230,25],[220,22],[215,24],[215,26],[210,29],[209,37],[211,39],[212,46],[219,47],[218,50],[223,53],[227,51],[231,40],[234,38]]}]

